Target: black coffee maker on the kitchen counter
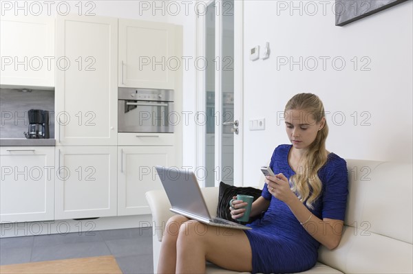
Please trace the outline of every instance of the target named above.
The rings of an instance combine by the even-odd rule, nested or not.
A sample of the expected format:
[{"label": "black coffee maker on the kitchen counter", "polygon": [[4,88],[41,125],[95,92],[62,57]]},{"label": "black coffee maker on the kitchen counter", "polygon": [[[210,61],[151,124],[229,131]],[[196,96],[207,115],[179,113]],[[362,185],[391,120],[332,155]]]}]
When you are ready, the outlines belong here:
[{"label": "black coffee maker on the kitchen counter", "polygon": [[49,139],[49,111],[41,109],[30,109],[28,111],[29,129],[28,133],[24,133],[28,139]]}]

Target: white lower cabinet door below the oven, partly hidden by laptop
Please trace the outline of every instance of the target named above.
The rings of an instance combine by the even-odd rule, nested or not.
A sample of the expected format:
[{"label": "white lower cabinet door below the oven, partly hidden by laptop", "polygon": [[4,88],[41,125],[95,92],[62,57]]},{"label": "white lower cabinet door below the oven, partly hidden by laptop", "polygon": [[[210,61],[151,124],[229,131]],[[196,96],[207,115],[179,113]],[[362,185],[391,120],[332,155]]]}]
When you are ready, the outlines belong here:
[{"label": "white lower cabinet door below the oven, partly hidden by laptop", "polygon": [[162,189],[156,165],[173,166],[173,146],[118,147],[118,215],[151,214],[145,193]]}]

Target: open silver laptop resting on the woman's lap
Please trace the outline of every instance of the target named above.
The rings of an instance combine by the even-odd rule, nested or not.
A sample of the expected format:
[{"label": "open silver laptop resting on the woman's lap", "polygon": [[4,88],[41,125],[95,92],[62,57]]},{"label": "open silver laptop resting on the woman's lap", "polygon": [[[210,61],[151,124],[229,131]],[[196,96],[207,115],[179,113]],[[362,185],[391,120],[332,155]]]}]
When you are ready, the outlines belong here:
[{"label": "open silver laptop resting on the woman's lap", "polygon": [[212,218],[193,172],[159,165],[156,166],[156,172],[171,202],[171,212],[216,227],[251,229],[237,222],[218,217]]}]

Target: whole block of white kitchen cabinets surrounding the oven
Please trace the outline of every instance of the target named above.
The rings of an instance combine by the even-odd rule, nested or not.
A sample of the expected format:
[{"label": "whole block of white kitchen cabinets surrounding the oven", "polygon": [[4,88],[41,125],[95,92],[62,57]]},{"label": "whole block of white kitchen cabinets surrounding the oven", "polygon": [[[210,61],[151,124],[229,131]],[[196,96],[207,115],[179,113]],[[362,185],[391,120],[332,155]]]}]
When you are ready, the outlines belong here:
[{"label": "whole block of white kitchen cabinets surrounding the oven", "polygon": [[2,17],[2,57],[46,60],[32,71],[3,64],[1,87],[54,88],[56,147],[1,148],[1,222],[150,214],[145,192],[162,187],[154,167],[180,163],[181,133],[118,141],[118,87],[182,89],[181,34],[103,16]]}]

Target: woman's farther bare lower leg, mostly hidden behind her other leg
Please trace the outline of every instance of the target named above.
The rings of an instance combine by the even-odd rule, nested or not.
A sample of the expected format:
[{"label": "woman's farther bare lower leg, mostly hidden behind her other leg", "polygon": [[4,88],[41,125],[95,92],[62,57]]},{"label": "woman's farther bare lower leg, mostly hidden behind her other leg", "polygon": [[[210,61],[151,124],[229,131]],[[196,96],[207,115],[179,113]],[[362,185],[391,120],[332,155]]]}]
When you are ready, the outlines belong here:
[{"label": "woman's farther bare lower leg, mostly hidden behind her other leg", "polygon": [[[187,220],[189,219],[180,215],[173,216],[168,220],[165,234],[162,237],[157,273],[175,273],[176,242],[180,226]],[[153,269],[153,271],[156,271],[156,269]]]}]

